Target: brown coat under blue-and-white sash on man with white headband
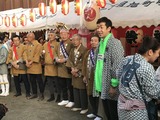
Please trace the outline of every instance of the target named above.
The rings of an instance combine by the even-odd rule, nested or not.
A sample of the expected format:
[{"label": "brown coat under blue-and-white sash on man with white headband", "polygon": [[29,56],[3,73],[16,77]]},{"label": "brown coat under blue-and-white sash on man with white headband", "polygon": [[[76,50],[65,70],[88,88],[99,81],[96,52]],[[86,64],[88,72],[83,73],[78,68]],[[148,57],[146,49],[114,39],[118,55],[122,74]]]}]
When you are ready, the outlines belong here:
[{"label": "brown coat under blue-and-white sash on man with white headband", "polygon": [[[73,48],[73,44],[68,39],[64,43],[64,47],[66,48],[66,52],[69,55],[71,49]],[[64,58],[63,53],[60,50],[60,43],[58,45],[58,58],[59,59],[63,59]],[[71,78],[71,74],[68,72],[68,68],[66,67],[66,63],[58,63],[58,77]]]}]

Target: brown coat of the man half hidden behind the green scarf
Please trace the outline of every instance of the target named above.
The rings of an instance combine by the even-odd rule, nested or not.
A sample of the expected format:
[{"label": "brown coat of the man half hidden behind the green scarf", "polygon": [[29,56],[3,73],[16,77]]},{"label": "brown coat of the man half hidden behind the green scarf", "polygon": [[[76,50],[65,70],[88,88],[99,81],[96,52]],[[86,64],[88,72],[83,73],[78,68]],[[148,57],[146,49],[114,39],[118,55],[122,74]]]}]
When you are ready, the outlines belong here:
[{"label": "brown coat of the man half hidden behind the green scarf", "polygon": [[[94,82],[94,68],[91,67],[91,70],[89,70],[88,67],[88,57],[90,54],[90,50],[86,52],[84,55],[84,60],[83,60],[83,68],[82,68],[82,75],[86,77],[87,80],[87,94],[92,95],[93,93],[93,82]],[[89,74],[90,72],[90,74]]]}]

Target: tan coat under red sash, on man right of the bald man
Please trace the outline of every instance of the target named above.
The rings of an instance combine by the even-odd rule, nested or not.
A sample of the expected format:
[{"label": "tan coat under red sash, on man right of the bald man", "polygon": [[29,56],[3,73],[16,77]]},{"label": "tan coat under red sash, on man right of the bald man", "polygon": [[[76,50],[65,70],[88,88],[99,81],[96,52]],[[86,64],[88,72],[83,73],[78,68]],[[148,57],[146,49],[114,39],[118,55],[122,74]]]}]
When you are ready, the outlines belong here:
[{"label": "tan coat under red sash, on man right of the bald man", "polygon": [[[54,61],[50,56],[50,52],[48,49],[48,42],[43,45],[43,50],[45,51],[45,54],[44,54],[44,64],[45,64],[44,75],[45,76],[57,76],[57,74],[58,74],[57,73],[57,65],[54,64]],[[57,57],[57,50],[58,50],[58,42],[57,41],[53,41],[51,43],[51,50],[52,50],[54,58],[56,58]]]}]

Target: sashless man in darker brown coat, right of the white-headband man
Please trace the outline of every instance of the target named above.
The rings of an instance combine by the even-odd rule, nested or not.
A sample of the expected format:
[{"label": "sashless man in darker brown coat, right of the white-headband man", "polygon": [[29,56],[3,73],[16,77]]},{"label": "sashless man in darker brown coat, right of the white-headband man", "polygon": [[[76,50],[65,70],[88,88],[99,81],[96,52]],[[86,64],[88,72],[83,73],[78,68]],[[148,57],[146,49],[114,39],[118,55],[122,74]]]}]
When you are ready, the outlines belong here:
[{"label": "sashless man in darker brown coat, right of the white-headband man", "polygon": [[84,54],[87,49],[82,45],[82,38],[75,34],[72,37],[74,48],[71,49],[66,66],[71,69],[72,85],[74,93],[74,108],[72,111],[80,111],[80,114],[85,114],[88,111],[88,99],[86,85],[82,77],[82,64]]}]

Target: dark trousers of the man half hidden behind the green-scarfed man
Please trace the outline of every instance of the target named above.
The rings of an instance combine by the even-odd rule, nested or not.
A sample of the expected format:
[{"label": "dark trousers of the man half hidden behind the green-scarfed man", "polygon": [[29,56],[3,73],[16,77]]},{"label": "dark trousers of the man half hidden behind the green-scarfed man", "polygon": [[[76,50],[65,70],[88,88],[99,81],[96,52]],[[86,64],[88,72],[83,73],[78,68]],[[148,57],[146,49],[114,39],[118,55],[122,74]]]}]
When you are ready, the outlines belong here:
[{"label": "dark trousers of the man half hidden behind the green-scarfed man", "polygon": [[89,102],[91,105],[92,113],[97,115],[98,112],[98,105],[99,105],[99,97],[93,97],[92,95],[88,96]]}]

